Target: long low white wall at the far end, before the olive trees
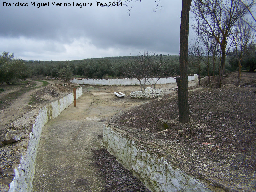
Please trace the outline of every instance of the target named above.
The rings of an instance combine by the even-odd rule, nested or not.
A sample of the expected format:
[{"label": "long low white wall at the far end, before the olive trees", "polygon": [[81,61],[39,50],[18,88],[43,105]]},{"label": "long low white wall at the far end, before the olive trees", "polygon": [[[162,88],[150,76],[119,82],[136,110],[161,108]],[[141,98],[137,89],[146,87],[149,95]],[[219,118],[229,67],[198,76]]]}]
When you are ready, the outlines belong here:
[{"label": "long low white wall at the far end, before the olive trees", "polygon": [[[188,81],[197,80],[198,75],[194,74],[194,76],[188,76]],[[150,82],[153,83],[158,80],[158,78],[148,79]],[[73,79],[71,80],[72,83],[77,84],[85,84],[85,85],[140,85],[138,79],[91,79],[91,78],[84,78],[84,79]],[[144,79],[143,82],[144,83]],[[176,83],[176,80],[173,77],[168,78],[160,78],[156,84],[166,84],[166,83]],[[148,81],[146,81],[146,85],[149,85]]]}]

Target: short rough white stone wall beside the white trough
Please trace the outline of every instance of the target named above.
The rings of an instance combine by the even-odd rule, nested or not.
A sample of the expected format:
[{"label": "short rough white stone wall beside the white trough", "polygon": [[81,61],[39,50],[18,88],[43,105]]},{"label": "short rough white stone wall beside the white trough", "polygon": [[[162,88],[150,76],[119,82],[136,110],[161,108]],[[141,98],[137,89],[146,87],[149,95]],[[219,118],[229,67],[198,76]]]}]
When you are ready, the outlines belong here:
[{"label": "short rough white stone wall beside the white trough", "polygon": [[162,89],[153,89],[151,87],[147,87],[143,91],[134,91],[130,93],[130,97],[134,99],[162,97],[163,95],[164,92]]}]

